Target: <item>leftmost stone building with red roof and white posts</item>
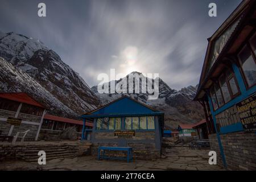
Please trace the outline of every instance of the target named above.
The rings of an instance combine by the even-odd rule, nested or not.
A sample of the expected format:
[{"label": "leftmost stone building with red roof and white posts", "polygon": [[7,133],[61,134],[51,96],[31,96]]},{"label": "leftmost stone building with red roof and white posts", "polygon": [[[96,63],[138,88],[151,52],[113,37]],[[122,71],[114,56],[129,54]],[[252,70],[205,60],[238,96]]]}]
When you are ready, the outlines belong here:
[{"label": "leftmost stone building with red roof and white posts", "polygon": [[0,93],[0,131],[2,136],[14,136],[30,130],[26,140],[37,140],[46,107],[26,93]]}]

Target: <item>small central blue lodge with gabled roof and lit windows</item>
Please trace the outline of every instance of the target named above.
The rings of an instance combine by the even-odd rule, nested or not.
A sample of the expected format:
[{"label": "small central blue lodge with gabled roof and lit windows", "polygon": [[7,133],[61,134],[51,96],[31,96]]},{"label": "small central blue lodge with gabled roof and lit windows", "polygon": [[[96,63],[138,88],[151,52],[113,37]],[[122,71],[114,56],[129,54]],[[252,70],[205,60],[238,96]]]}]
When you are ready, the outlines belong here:
[{"label": "small central blue lodge with gabled roof and lit windows", "polygon": [[[98,147],[111,146],[132,147],[137,159],[160,157],[164,113],[123,96],[81,117],[84,126],[88,119],[93,120],[93,155],[97,155]],[[86,139],[87,132],[82,130],[82,139]]]}]

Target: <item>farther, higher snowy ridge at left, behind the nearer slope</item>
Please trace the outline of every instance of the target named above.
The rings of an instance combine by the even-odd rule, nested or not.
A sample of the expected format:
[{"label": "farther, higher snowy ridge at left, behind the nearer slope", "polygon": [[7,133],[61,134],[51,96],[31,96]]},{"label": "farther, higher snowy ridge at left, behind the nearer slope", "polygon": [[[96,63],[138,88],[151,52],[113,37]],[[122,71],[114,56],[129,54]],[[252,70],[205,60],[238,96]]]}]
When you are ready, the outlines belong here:
[{"label": "farther, higher snowy ridge at left, behind the nearer slope", "polygon": [[[34,78],[73,113],[82,114],[101,105],[100,100],[79,74],[65,64],[56,52],[44,46],[40,40],[14,32],[1,34],[1,36],[0,57]],[[51,112],[57,109],[51,108]]]}]

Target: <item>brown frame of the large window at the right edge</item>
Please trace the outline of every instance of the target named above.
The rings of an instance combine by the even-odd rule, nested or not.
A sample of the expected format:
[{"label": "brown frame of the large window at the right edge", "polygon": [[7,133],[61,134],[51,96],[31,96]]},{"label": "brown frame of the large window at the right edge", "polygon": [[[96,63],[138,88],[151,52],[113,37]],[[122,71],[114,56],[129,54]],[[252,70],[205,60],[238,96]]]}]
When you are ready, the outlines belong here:
[{"label": "brown frame of the large window at the right edge", "polygon": [[253,51],[253,48],[251,47],[251,44],[250,44],[250,39],[253,38],[254,35],[256,35],[255,29],[254,29],[254,31],[252,31],[251,34],[245,39],[245,42],[243,42],[243,43],[241,44],[240,48],[238,48],[238,51],[236,52],[236,58],[237,58],[237,60],[238,60],[237,62],[238,62],[238,65],[239,65],[239,70],[240,70],[240,73],[241,73],[241,75],[242,75],[243,82],[245,83],[246,90],[249,90],[250,88],[253,88],[253,87],[256,85],[256,83],[253,84],[253,85],[251,85],[251,86],[249,86],[249,84],[248,84],[248,82],[247,82],[247,78],[246,78],[246,76],[245,76],[245,73],[243,72],[243,69],[242,69],[241,60],[240,60],[240,58],[239,58],[238,55],[240,54],[240,52],[242,51],[242,49],[243,49],[245,46],[247,46],[247,47],[250,49],[251,56],[253,57],[253,60],[254,60],[254,62],[255,62],[255,64],[256,64],[256,55],[255,55],[255,53],[254,53],[254,51]]}]

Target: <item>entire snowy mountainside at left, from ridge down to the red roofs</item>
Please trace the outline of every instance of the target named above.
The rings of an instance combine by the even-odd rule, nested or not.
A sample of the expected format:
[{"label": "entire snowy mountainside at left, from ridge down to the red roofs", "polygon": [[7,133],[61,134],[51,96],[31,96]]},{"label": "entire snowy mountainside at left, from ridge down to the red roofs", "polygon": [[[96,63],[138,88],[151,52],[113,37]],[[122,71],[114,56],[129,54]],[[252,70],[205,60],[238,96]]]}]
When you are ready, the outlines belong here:
[{"label": "entire snowy mountainside at left, from ridge down to the red roofs", "polygon": [[[69,117],[101,105],[100,100],[79,74],[65,64],[56,52],[44,46],[40,40],[14,32],[7,34],[1,32],[0,57],[14,66],[1,60],[1,67],[6,68],[5,72],[1,71],[1,74],[6,75],[2,74],[0,77],[0,92],[30,93],[32,96],[38,96],[40,101],[49,106],[52,114]],[[13,73],[16,76],[8,78]],[[23,78],[32,80],[29,81],[31,86]],[[37,91],[32,92],[31,88]],[[40,95],[42,95],[41,98]]]}]

